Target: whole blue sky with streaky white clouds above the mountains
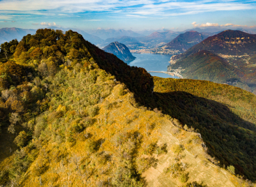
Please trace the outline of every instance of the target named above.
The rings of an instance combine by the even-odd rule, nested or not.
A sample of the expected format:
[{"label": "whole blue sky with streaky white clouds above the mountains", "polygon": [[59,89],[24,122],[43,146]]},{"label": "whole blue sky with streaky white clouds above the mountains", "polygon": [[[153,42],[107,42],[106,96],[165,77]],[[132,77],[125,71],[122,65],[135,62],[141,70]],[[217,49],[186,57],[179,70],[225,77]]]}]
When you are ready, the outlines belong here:
[{"label": "whole blue sky with streaky white clouds above the mountains", "polygon": [[254,27],[256,1],[0,0],[0,28]]}]

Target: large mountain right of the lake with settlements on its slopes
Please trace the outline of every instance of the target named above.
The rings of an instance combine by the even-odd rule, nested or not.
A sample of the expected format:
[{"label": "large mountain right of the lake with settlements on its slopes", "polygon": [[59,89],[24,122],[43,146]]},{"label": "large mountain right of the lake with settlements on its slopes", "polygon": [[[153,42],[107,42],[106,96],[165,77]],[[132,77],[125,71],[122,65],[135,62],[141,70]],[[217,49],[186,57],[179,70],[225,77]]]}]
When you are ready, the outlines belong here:
[{"label": "large mountain right of the lake with settlements on its slopes", "polygon": [[226,30],[171,58],[184,78],[229,84],[256,93],[256,35]]}]

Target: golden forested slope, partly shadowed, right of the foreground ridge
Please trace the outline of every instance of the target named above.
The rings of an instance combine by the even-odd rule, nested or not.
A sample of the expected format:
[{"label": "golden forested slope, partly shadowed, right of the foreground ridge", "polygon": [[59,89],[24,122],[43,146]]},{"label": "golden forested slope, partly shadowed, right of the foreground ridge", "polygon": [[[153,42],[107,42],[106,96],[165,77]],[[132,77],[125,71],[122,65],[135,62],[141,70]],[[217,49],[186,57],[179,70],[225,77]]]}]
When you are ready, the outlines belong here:
[{"label": "golden forested slope, partly shadowed, right of the foreground ridge", "polygon": [[221,165],[234,165],[237,174],[255,180],[255,95],[209,81],[154,77],[154,84],[164,114],[195,128]]}]

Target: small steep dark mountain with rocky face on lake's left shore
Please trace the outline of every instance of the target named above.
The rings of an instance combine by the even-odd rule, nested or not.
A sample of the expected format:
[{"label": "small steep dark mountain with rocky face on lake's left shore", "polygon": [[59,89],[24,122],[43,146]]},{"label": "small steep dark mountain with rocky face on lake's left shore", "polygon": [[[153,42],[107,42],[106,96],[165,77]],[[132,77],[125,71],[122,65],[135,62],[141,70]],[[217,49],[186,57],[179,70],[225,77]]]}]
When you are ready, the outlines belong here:
[{"label": "small steep dark mountain with rocky face on lake's left shore", "polygon": [[119,59],[123,61],[130,61],[136,59],[126,47],[126,45],[119,43],[118,41],[112,42],[103,48],[105,52],[113,53]]}]

